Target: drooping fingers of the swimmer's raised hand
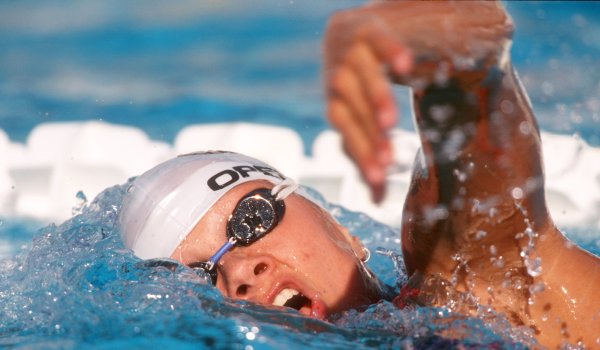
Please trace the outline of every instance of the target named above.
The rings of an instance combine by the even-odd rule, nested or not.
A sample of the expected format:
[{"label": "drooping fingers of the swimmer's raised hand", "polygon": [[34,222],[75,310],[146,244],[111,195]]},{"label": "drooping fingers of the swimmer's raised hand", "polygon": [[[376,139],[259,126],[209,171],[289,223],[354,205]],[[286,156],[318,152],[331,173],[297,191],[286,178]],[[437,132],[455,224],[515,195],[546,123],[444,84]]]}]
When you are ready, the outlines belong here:
[{"label": "drooping fingers of the swimmer's raised hand", "polygon": [[412,56],[391,33],[373,23],[357,31],[347,45],[335,40],[329,44],[328,116],[342,135],[345,152],[379,202],[393,158],[387,134],[398,117],[389,73],[408,73]]}]

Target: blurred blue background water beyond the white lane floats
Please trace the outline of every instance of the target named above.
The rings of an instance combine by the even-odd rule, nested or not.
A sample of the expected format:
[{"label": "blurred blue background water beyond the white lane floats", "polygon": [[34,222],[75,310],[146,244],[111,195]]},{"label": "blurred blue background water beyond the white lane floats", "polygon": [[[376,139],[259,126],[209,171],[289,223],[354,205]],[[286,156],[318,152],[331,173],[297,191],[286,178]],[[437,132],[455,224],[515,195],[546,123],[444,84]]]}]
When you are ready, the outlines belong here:
[{"label": "blurred blue background water beyond the white lane floats", "polygon": [[[101,119],[171,142],[191,123],[243,120],[291,127],[308,150],[327,128],[327,18],[360,3],[2,1],[0,128],[24,141],[42,122]],[[600,3],[507,6],[542,128],[600,145]]]}]

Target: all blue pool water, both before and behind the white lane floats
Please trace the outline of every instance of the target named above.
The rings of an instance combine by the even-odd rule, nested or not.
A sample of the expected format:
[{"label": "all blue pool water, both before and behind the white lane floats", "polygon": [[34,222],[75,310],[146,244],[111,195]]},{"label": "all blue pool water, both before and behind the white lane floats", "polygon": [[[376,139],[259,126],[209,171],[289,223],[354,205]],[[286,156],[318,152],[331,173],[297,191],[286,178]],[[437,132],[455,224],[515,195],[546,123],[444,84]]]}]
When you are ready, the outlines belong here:
[{"label": "all blue pool water, both before and behind the white lane floats", "polygon": [[[23,142],[39,123],[100,119],[171,142],[190,123],[243,120],[291,127],[308,148],[327,128],[319,46],[326,19],[358,3],[0,2],[0,128]],[[600,4],[508,7],[518,28],[515,65],[542,128],[600,145]],[[465,347],[534,345],[499,316],[484,325],[382,302],[324,323],[227,300],[183,266],[172,271],[124,249],[114,228],[121,195],[109,189],[58,226],[0,214],[0,347],[457,346],[445,329],[464,335]],[[369,265],[397,290],[406,280],[398,232],[330,209],[373,252],[390,252],[373,254]],[[600,254],[589,230],[597,232],[567,233]]]}]

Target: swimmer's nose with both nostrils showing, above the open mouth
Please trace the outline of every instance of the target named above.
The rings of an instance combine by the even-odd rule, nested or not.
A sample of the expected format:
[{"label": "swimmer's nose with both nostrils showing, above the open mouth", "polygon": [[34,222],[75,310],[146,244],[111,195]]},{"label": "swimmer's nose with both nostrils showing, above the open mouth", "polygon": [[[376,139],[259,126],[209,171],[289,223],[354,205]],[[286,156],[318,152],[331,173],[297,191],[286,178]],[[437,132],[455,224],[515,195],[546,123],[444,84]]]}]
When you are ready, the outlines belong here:
[{"label": "swimmer's nose with both nostrils showing, above the open mouth", "polygon": [[230,254],[220,266],[223,288],[234,299],[260,302],[269,292],[269,276],[275,267],[273,258],[265,255]]}]

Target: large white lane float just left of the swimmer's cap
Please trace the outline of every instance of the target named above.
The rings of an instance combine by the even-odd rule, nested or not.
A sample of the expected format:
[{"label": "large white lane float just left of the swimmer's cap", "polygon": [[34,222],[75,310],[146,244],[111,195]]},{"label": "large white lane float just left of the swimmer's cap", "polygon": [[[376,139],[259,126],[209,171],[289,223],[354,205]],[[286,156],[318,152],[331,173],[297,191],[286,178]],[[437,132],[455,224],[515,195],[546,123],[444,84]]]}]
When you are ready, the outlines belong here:
[{"label": "large white lane float just left of the swimmer's cap", "polygon": [[9,166],[16,192],[11,211],[60,222],[70,217],[79,191],[92,199],[171,155],[169,145],[133,127],[95,121],[40,124]]}]

